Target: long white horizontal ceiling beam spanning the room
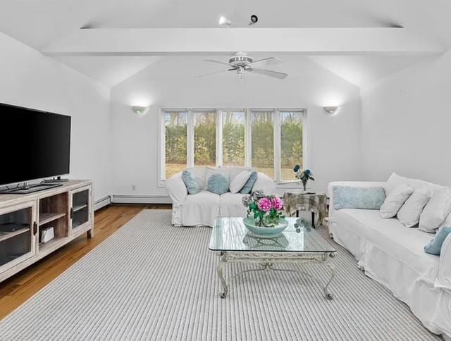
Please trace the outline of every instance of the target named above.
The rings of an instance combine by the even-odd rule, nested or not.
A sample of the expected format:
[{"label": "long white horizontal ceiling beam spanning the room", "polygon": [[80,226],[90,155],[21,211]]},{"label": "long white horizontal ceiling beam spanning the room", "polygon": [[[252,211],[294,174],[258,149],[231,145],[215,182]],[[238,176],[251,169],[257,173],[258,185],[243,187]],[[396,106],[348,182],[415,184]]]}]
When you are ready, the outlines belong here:
[{"label": "long white horizontal ceiling beam spanning the room", "polygon": [[431,55],[442,46],[404,28],[158,28],[78,30],[49,56],[191,54]]}]

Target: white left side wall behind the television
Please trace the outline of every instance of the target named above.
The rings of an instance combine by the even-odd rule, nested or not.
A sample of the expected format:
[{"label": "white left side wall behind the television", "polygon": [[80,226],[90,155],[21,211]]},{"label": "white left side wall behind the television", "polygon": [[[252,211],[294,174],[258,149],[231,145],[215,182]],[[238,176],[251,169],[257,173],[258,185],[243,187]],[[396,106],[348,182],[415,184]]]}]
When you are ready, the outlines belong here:
[{"label": "white left side wall behind the television", "polygon": [[0,33],[0,102],[72,116],[70,178],[110,194],[109,89]]}]

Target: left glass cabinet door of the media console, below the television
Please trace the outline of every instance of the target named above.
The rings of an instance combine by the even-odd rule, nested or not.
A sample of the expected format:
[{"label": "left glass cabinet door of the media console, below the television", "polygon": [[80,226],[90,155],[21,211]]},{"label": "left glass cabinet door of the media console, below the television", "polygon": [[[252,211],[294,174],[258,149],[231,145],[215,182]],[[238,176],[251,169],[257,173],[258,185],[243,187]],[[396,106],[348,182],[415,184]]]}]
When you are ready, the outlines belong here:
[{"label": "left glass cabinet door of the media console, below the television", "polygon": [[35,204],[0,211],[0,273],[35,254]]}]

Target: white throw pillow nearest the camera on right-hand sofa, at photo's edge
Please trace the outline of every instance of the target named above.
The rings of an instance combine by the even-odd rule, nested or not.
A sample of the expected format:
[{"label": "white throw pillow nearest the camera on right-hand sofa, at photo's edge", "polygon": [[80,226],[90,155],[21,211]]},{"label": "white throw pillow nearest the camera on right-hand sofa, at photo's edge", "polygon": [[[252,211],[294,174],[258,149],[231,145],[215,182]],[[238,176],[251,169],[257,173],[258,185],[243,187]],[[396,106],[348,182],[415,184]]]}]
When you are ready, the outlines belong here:
[{"label": "white throw pillow nearest the camera on right-hand sofa, at photo's edge", "polygon": [[419,229],[435,233],[451,212],[451,188],[434,192],[421,213]]}]

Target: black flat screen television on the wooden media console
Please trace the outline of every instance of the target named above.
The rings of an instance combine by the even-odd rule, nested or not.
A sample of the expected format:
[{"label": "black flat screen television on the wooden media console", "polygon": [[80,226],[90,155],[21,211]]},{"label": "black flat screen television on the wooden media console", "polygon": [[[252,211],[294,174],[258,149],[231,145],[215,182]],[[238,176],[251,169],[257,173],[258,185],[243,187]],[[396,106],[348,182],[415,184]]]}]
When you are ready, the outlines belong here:
[{"label": "black flat screen television on the wooden media console", "polygon": [[0,104],[0,185],[69,173],[70,116]]}]

